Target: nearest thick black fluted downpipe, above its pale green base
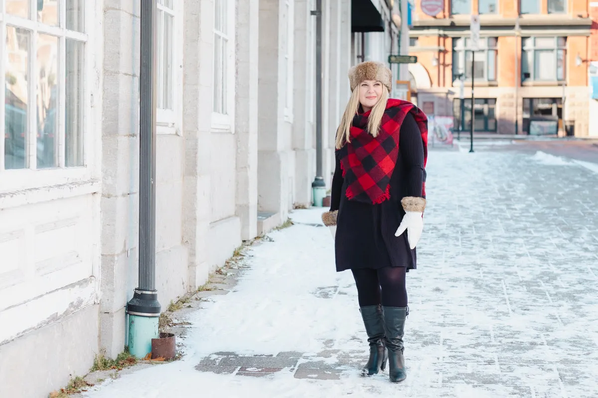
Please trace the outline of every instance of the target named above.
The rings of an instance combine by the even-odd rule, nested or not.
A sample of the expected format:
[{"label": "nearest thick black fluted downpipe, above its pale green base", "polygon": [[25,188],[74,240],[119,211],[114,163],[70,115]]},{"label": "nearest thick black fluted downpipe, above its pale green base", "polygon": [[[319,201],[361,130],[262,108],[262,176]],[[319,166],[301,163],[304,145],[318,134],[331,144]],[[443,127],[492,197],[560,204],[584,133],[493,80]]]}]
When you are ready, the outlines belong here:
[{"label": "nearest thick black fluted downpipe, above its pale green base", "polygon": [[155,290],[155,20],[156,0],[141,0],[139,74],[139,287],[127,313],[160,316]]}]

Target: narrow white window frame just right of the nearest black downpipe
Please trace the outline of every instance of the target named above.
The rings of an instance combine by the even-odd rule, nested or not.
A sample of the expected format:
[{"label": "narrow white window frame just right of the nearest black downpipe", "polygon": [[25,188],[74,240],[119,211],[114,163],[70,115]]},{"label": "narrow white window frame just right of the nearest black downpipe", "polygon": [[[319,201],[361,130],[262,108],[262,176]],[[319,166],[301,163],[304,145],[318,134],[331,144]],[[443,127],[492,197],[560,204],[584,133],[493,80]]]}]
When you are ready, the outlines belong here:
[{"label": "narrow white window frame just right of the nearest black downpipe", "polygon": [[[157,134],[182,134],[182,118],[183,118],[183,70],[182,70],[182,63],[183,63],[183,23],[182,23],[182,16],[183,16],[183,2],[179,0],[173,0],[173,8],[166,7],[166,5],[160,4],[158,2],[157,7],[158,10],[163,11],[164,13],[169,14],[173,17],[173,24],[172,24],[172,70],[171,70],[171,79],[172,84],[170,85],[170,90],[172,90],[172,109],[161,109],[159,106],[156,109],[156,133]],[[164,47],[163,47],[163,38],[164,38],[164,23],[161,23],[160,31],[157,35],[157,42],[158,45],[156,46],[156,55],[158,57],[158,62],[165,60],[164,57]],[[158,67],[158,70],[160,68]],[[161,73],[158,73],[156,85],[160,87],[159,82],[163,79]],[[158,93],[161,95],[161,93]]]}]

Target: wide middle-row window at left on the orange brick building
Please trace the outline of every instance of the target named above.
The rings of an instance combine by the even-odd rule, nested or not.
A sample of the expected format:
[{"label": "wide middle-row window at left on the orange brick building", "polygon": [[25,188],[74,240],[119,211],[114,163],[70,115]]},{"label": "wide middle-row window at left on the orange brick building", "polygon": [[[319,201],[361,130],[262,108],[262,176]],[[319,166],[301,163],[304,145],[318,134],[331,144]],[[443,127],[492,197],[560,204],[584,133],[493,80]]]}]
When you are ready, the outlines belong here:
[{"label": "wide middle-row window at left on the orange brick building", "polygon": [[481,38],[480,51],[475,51],[472,57],[469,38],[453,39],[453,80],[465,74],[465,79],[471,79],[471,62],[474,58],[474,78],[481,81],[496,81],[496,38]]}]

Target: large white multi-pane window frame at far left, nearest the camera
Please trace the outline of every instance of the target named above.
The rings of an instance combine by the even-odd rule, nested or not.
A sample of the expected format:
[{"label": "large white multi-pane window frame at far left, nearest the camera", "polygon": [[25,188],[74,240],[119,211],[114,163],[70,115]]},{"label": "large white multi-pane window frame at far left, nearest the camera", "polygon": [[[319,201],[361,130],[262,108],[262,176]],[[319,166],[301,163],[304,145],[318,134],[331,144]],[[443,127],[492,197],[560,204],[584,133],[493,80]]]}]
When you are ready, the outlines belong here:
[{"label": "large white multi-pane window frame at far left, nearest the camera", "polygon": [[[29,0],[29,7],[31,12],[37,10],[37,0]],[[4,49],[6,45],[6,26],[22,27],[32,31],[32,39],[30,42],[31,53],[29,55],[29,72],[28,76],[33,76],[29,82],[29,103],[35,103],[36,92],[36,73],[33,73],[36,67],[36,33],[47,33],[59,37],[59,101],[58,101],[58,134],[59,134],[59,153],[57,168],[36,169],[36,140],[29,139],[29,167],[25,169],[4,169],[4,134],[0,137],[0,194],[4,192],[16,192],[23,190],[35,190],[44,187],[44,189],[51,190],[53,186],[60,184],[74,183],[80,181],[89,181],[95,176],[97,168],[96,156],[96,140],[93,137],[94,129],[91,126],[91,57],[93,55],[91,49],[94,47],[94,39],[97,31],[96,21],[93,18],[94,5],[91,2],[84,2],[84,26],[85,33],[75,32],[73,30],[66,30],[66,0],[60,1],[59,6],[59,26],[49,26],[31,18],[21,18],[5,13],[5,1],[0,0],[0,51],[3,52],[3,60],[0,62],[0,79],[4,82],[5,67],[4,67]],[[66,38],[76,39],[84,42],[84,85],[83,85],[83,166],[66,167],[66,153],[65,147],[65,90],[66,90],[66,74],[65,64],[62,62],[66,54]],[[4,83],[3,83],[4,84]],[[0,126],[4,131],[5,123],[5,92],[0,90]],[[32,109],[30,107],[30,109]],[[29,126],[37,125],[37,115],[34,110],[29,110]],[[35,132],[29,131],[33,137]]]}]

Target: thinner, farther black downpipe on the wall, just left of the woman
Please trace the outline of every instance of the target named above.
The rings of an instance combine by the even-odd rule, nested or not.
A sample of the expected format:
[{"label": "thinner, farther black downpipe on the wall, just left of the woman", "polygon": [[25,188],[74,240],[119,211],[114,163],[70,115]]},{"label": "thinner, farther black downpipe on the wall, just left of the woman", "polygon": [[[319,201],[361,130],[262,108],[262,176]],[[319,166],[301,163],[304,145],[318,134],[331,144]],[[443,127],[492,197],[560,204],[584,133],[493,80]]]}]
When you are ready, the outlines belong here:
[{"label": "thinner, farther black downpipe on the wall, just left of the woman", "polygon": [[312,15],[316,17],[316,178],[312,188],[325,189],[322,172],[322,0],[316,0]]}]

